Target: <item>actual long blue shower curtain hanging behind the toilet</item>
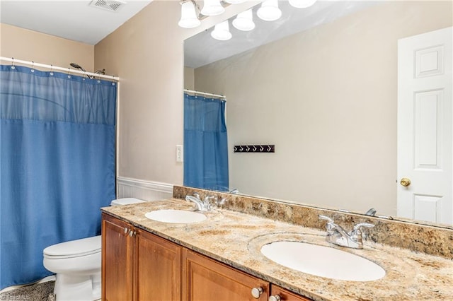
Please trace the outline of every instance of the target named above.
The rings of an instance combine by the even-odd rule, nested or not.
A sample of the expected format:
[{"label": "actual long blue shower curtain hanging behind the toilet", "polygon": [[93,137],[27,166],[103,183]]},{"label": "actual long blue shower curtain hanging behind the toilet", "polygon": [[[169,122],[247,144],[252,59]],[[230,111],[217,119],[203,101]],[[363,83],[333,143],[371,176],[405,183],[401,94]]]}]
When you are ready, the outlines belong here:
[{"label": "actual long blue shower curtain hanging behind the toilet", "polygon": [[117,84],[0,66],[0,283],[51,273],[45,247],[99,235],[115,199]]}]

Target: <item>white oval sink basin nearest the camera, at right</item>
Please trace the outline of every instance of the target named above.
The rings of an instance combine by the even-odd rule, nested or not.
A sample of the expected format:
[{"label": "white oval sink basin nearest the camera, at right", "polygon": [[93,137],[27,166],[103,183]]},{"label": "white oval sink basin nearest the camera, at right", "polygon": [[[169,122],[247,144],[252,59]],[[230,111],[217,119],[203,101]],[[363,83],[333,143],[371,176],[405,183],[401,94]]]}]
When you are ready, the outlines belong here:
[{"label": "white oval sink basin nearest the camera, at right", "polygon": [[261,253],[277,264],[303,273],[346,281],[374,281],[384,268],[361,256],[304,242],[272,242]]}]

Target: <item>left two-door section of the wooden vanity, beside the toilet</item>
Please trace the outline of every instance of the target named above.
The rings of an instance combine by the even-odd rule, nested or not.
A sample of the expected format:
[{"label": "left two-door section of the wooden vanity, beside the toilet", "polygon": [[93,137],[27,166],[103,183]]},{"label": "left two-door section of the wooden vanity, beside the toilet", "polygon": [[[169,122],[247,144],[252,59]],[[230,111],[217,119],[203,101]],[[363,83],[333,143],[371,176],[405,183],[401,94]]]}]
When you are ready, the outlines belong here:
[{"label": "left two-door section of the wooden vanity, beside the toilet", "polygon": [[103,213],[102,300],[181,300],[182,247]]}]

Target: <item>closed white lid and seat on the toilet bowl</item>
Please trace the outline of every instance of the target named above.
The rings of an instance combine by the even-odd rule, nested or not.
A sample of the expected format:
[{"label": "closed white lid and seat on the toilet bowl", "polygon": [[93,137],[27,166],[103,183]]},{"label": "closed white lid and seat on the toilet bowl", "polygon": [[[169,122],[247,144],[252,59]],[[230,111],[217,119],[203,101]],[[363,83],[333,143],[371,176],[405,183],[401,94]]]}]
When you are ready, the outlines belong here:
[{"label": "closed white lid and seat on the toilet bowl", "polygon": [[42,253],[46,257],[69,258],[101,252],[101,235],[53,244]]}]

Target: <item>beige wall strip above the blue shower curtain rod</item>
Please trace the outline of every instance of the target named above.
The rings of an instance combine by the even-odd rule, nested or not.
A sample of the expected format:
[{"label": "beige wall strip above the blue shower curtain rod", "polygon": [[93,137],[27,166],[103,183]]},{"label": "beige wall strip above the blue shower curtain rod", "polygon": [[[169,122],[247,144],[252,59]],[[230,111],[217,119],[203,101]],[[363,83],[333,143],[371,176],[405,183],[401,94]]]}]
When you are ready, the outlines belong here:
[{"label": "beige wall strip above the blue shower curtain rod", "polygon": [[0,56],[60,67],[69,67],[74,62],[87,71],[94,67],[93,45],[4,23],[0,23]]}]

